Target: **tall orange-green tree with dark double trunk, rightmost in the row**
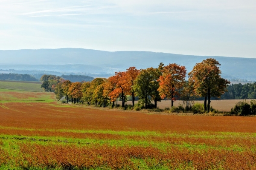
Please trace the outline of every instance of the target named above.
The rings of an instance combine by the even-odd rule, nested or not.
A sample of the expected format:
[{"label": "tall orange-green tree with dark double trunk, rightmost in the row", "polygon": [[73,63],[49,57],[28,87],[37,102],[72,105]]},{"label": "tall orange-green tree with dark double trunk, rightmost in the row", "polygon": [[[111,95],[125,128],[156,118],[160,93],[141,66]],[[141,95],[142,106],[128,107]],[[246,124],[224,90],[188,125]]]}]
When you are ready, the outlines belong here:
[{"label": "tall orange-green tree with dark double trunk, rightmost in the row", "polygon": [[193,84],[195,94],[204,97],[204,110],[208,112],[211,97],[220,97],[227,91],[227,85],[230,83],[227,79],[221,78],[220,65],[215,59],[204,59],[189,73],[189,82]]}]

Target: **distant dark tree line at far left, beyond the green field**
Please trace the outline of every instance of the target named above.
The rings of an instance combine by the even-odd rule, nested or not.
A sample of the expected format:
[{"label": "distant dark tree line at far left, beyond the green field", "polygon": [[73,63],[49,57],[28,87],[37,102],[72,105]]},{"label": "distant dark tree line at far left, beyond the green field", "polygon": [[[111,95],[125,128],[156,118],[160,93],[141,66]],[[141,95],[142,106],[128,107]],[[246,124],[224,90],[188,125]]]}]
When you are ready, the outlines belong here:
[{"label": "distant dark tree line at far left, beyond the green field", "polygon": [[38,81],[35,77],[30,76],[29,74],[15,74],[15,73],[9,73],[0,74],[1,80],[15,80],[15,81]]}]

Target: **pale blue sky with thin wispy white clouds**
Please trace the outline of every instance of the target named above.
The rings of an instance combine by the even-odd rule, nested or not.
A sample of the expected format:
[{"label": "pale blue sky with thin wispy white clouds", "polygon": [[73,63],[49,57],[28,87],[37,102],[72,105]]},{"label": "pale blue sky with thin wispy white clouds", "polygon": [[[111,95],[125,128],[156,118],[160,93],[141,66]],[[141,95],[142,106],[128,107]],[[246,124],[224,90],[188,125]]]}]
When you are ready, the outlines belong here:
[{"label": "pale blue sky with thin wispy white clouds", "polygon": [[256,58],[256,0],[0,0],[0,50]]}]

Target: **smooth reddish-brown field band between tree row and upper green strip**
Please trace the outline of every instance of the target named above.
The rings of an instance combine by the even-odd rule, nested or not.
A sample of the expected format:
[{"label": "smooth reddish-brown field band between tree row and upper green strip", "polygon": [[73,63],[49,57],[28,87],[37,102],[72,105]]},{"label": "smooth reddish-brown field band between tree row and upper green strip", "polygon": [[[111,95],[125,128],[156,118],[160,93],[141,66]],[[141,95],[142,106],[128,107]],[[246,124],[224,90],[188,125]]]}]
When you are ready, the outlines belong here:
[{"label": "smooth reddish-brown field band between tree row and upper green strip", "polygon": [[3,103],[0,104],[0,126],[183,133],[187,131],[256,132],[256,117],[177,116],[60,106],[63,105]]}]

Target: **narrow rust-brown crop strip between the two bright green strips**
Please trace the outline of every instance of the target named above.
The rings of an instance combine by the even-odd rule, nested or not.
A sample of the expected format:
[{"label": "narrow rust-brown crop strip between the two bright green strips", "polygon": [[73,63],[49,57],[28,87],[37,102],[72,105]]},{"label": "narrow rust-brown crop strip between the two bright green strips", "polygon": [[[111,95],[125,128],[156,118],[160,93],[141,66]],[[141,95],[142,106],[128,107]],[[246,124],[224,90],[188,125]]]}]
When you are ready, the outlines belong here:
[{"label": "narrow rust-brown crop strip between the two bright green strips", "polygon": [[[135,135],[117,135],[117,134],[104,134],[104,133],[74,133],[74,132],[52,132],[52,131],[31,131],[31,130],[9,130],[1,129],[0,133],[5,135],[21,135],[21,136],[49,136],[64,137],[67,139],[86,139],[95,143],[95,140],[102,140],[102,142],[111,143],[120,142],[120,145],[129,141],[130,143],[165,143],[167,145],[204,145],[207,147],[231,147],[234,146],[242,150],[253,149],[256,150],[255,137],[239,137],[239,136],[226,136],[218,138],[205,138],[205,137],[192,137],[192,136],[135,136]],[[26,139],[26,138],[22,138]],[[134,142],[133,142],[134,141]],[[104,142],[104,143],[105,143]]]}]

